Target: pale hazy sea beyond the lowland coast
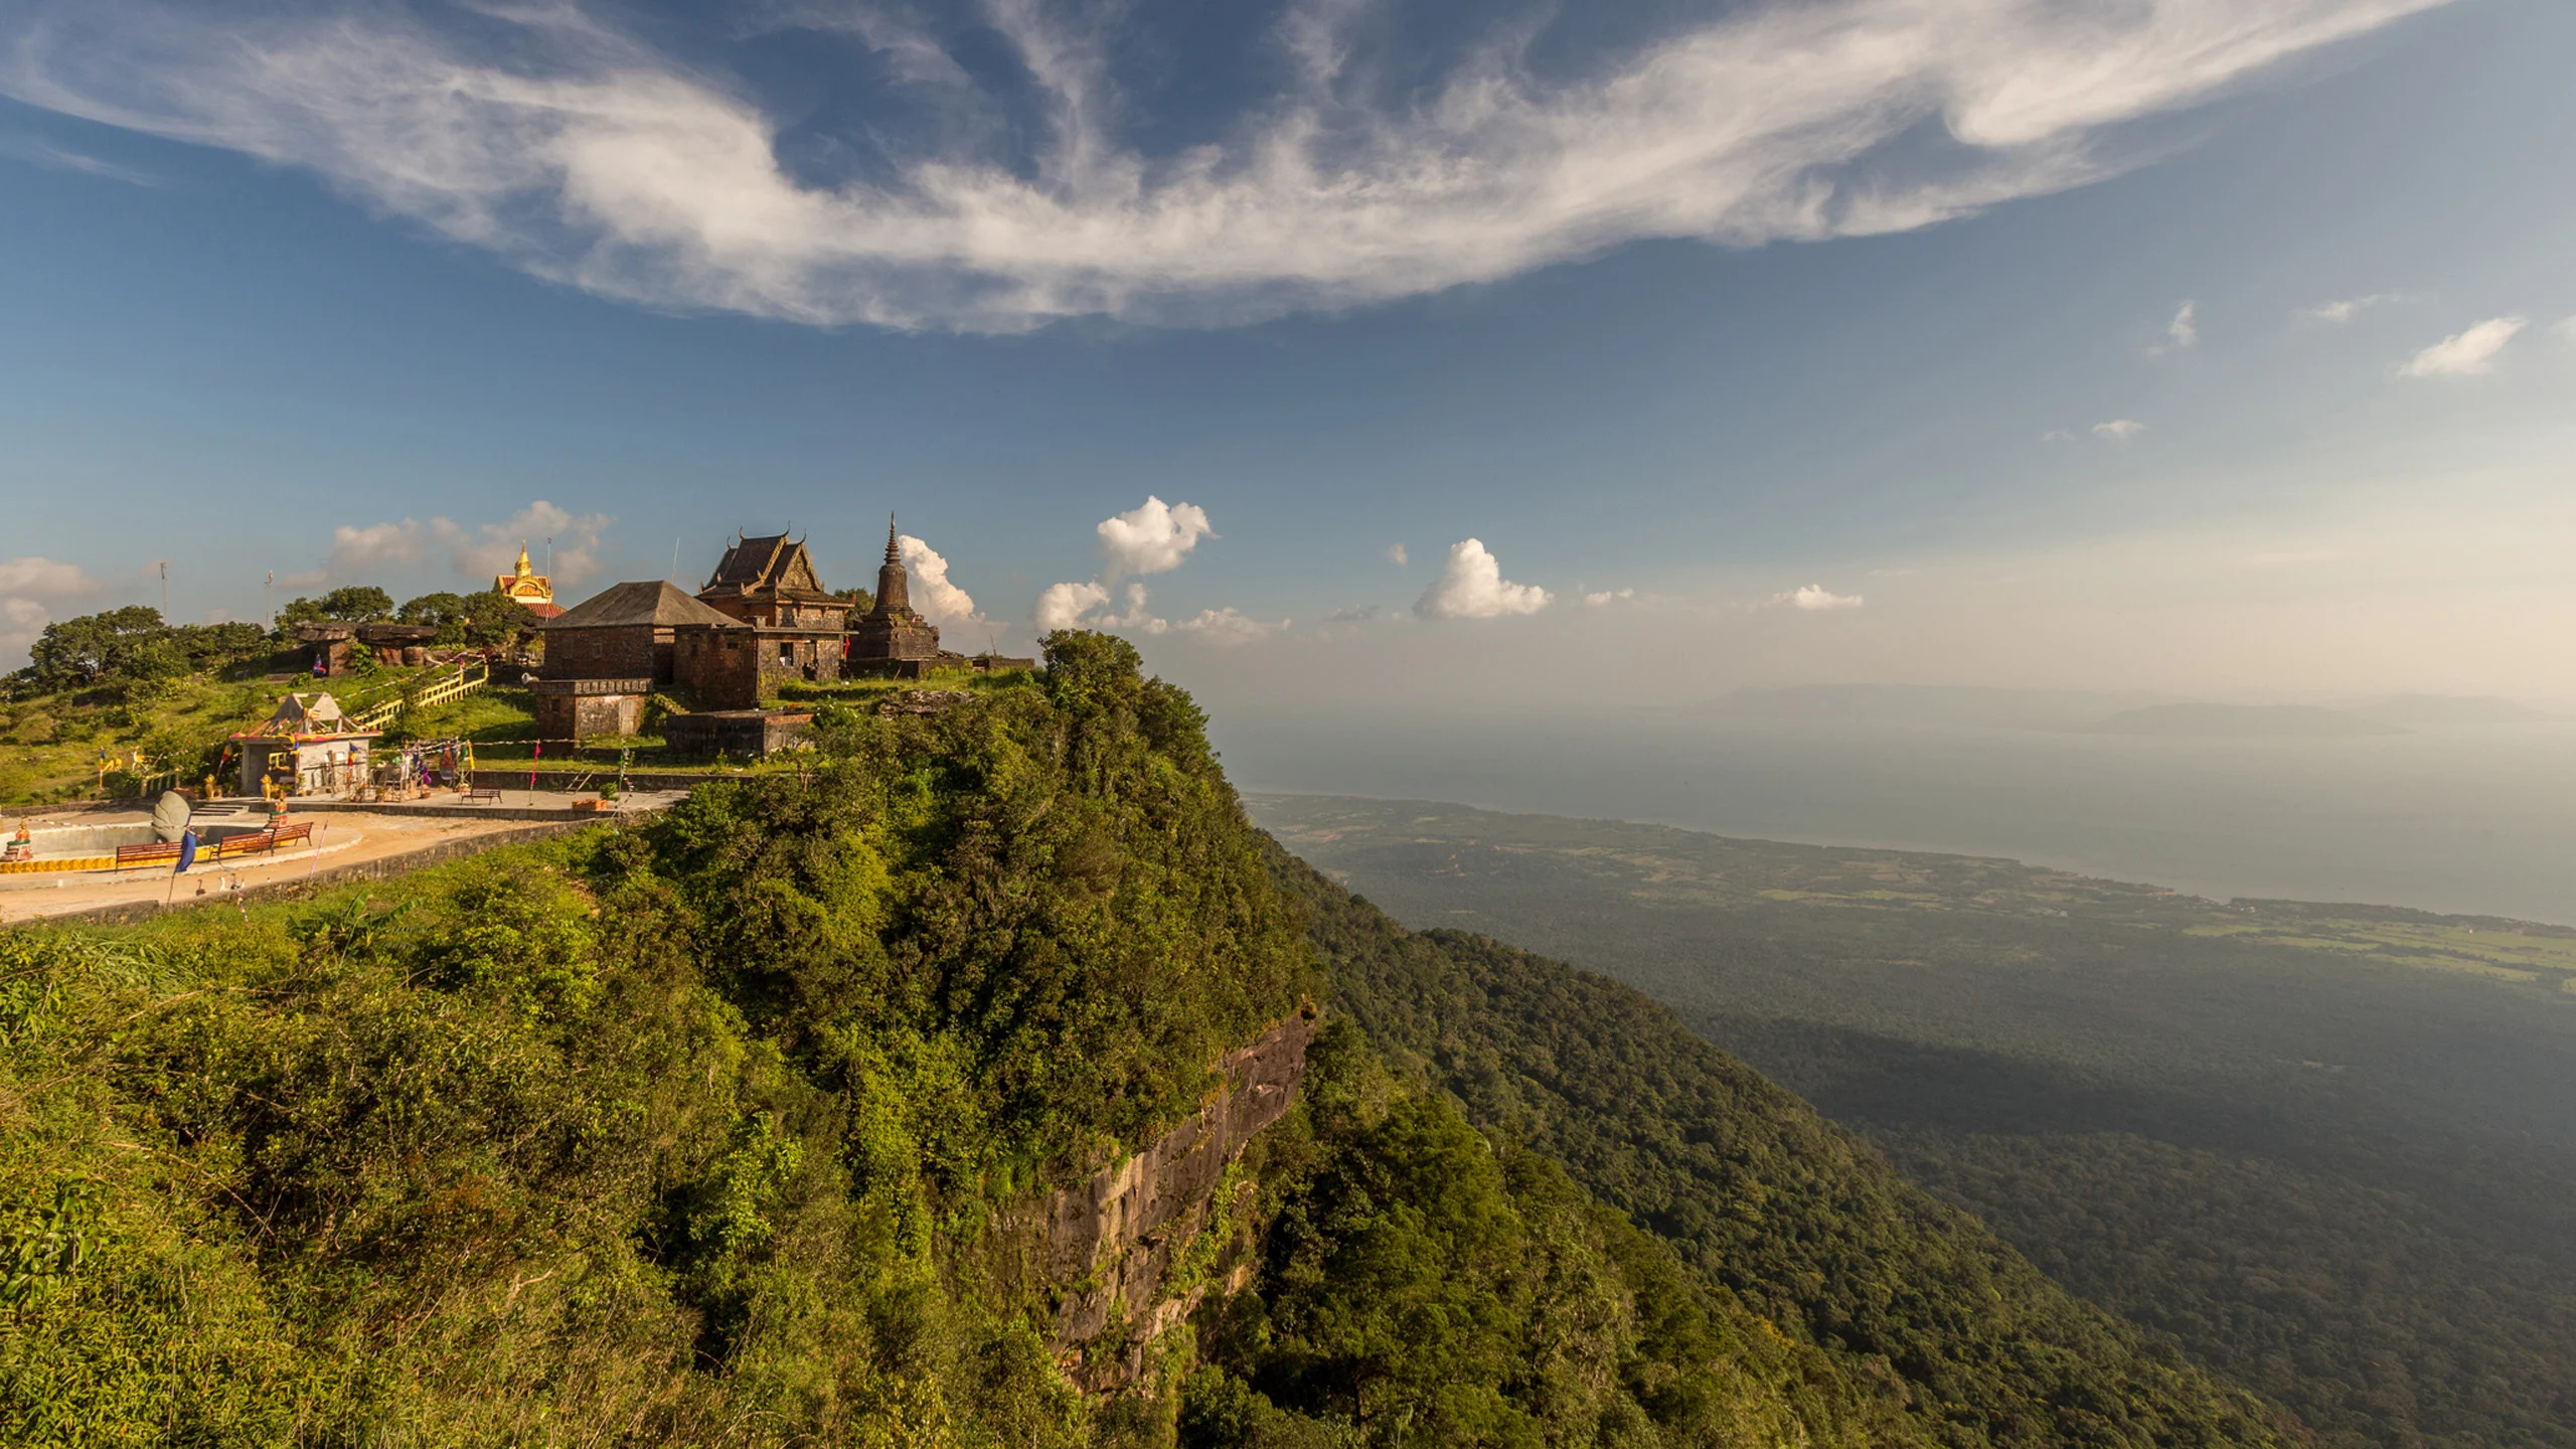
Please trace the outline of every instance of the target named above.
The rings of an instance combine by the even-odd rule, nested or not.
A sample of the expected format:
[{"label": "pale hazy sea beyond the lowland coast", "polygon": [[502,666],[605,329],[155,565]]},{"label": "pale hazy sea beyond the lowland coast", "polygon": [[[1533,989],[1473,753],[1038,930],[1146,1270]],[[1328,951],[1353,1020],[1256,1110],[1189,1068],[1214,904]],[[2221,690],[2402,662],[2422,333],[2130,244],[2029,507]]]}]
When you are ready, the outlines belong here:
[{"label": "pale hazy sea beyond the lowland coast", "polygon": [[2056,691],[1801,688],[1579,712],[1218,709],[1247,792],[1445,799],[2012,856],[2213,900],[2576,923],[2576,714],[2385,701],[2205,719]]}]

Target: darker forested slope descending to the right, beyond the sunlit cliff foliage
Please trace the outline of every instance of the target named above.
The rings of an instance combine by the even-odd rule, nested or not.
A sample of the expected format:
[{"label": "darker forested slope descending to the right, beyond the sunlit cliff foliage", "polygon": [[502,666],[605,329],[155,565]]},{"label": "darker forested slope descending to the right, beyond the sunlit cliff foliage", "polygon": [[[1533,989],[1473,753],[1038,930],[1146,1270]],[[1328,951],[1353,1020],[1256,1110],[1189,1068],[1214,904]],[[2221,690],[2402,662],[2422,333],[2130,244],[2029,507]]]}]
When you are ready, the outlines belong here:
[{"label": "darker forested slope descending to the right, beyond the sunlit cliff foliage", "polygon": [[1334,1000],[1566,1163],[1700,1279],[1795,1325],[1940,1444],[2269,1444],[2269,1410],[2071,1299],[1806,1104],[1605,977],[1404,933],[1280,856]]}]

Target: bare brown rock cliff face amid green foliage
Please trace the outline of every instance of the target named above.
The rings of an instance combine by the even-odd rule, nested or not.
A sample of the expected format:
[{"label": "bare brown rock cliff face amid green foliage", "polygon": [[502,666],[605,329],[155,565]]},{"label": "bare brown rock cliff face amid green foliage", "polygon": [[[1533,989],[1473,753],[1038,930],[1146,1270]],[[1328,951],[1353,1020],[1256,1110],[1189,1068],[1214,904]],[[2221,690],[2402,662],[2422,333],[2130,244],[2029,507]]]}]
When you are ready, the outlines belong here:
[{"label": "bare brown rock cliff face amid green foliage", "polygon": [[1296,1101],[1314,1029],[1306,1011],[1229,1052],[1198,1116],[1054,1194],[1041,1220],[1012,1225],[1061,1294],[1054,1341],[1082,1387],[1131,1382],[1154,1338],[1239,1274],[1234,1209],[1249,1204],[1252,1183],[1226,1186],[1226,1168]]}]

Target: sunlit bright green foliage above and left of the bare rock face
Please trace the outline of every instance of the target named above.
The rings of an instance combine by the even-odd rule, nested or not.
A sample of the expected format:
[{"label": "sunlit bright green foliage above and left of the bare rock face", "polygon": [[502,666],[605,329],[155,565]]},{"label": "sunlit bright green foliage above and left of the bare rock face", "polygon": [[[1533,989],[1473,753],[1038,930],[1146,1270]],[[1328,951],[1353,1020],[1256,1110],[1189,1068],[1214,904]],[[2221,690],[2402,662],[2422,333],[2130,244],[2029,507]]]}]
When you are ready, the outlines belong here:
[{"label": "sunlit bright green foliage above and left of the bare rock face", "polygon": [[376,900],[0,933],[0,1204],[98,1183],[0,1441],[1151,1439],[963,1266],[1296,1008],[1296,920],[1203,748],[845,735]]}]

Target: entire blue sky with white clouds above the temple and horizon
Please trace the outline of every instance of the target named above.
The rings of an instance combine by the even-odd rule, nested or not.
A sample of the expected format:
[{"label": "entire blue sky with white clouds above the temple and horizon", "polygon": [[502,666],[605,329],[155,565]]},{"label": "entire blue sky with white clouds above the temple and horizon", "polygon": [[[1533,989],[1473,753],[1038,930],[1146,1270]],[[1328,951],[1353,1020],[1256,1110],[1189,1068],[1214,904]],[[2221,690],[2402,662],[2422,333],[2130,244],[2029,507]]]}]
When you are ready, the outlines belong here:
[{"label": "entire blue sky with white clouds above the temple and horizon", "polygon": [[863,583],[899,508],[953,637],[1242,701],[2568,696],[2568,54],[2543,0],[0,0],[0,665],[155,559],[180,616],[549,531],[572,593],[781,526]]}]

